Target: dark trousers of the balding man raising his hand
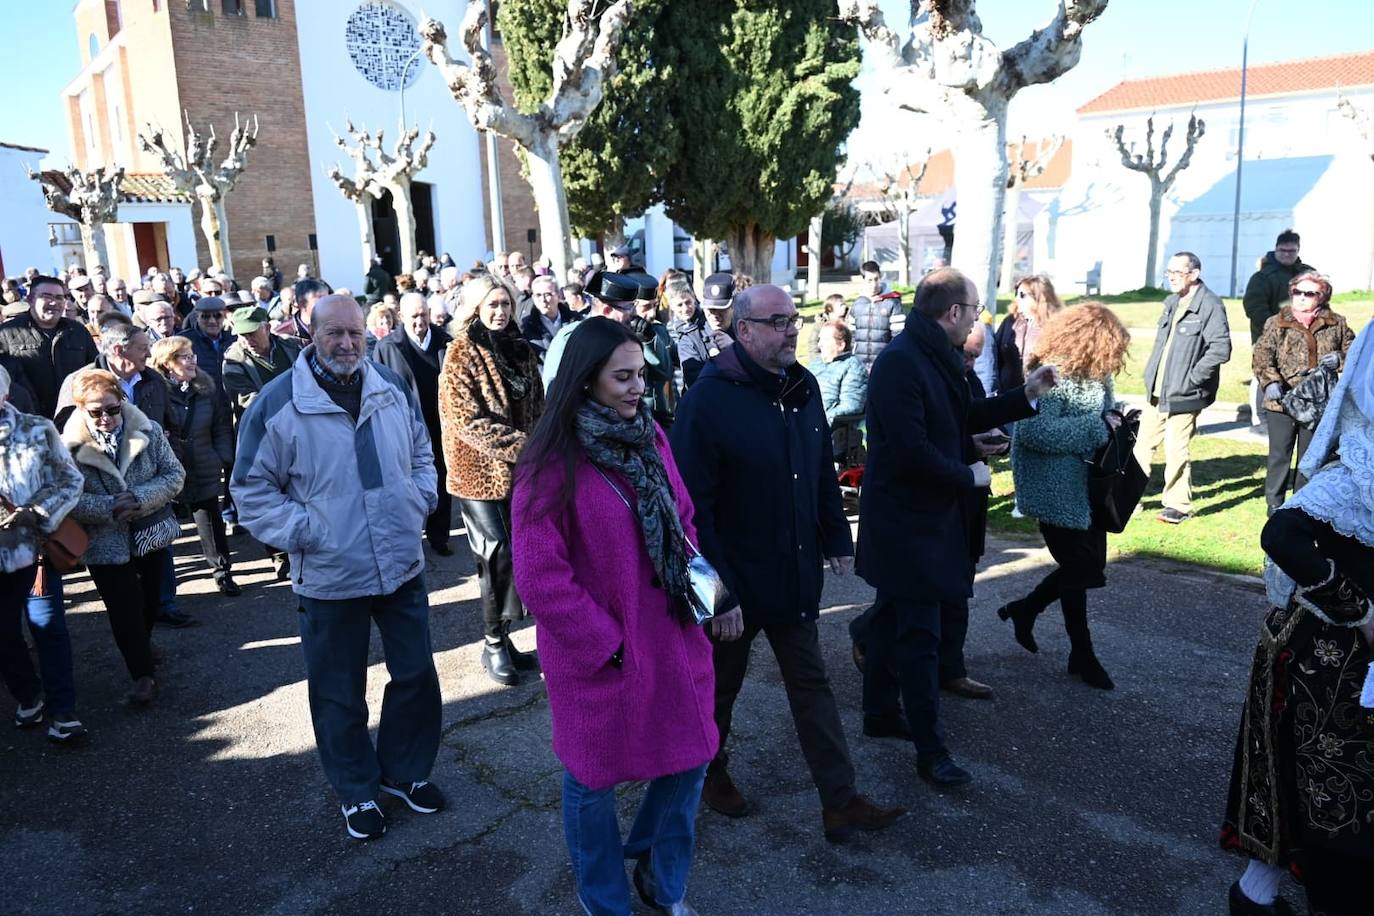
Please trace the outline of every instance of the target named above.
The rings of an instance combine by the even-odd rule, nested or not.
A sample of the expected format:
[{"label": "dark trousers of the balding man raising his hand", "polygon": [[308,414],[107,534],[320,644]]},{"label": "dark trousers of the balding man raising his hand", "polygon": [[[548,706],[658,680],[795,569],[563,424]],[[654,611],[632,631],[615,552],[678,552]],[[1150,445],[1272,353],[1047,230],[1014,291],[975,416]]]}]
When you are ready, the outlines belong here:
[{"label": "dark trousers of the balding man raising his hand", "polygon": [[944,732],[940,729],[940,602],[878,592],[878,600],[870,610],[863,714],[893,718],[900,711],[900,696],[916,753],[938,757],[945,753]]}]

